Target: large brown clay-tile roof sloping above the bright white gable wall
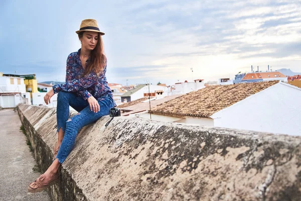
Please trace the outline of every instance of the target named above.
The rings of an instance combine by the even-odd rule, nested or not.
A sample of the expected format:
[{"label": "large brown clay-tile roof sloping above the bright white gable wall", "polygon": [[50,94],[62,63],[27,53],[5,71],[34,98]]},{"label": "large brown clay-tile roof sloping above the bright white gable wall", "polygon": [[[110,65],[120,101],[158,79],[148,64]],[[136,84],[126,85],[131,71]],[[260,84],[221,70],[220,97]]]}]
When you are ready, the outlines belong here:
[{"label": "large brown clay-tile roof sloping above the bright white gable wall", "polygon": [[152,113],[209,118],[214,113],[278,82],[276,80],[207,86],[159,105],[152,110]]}]

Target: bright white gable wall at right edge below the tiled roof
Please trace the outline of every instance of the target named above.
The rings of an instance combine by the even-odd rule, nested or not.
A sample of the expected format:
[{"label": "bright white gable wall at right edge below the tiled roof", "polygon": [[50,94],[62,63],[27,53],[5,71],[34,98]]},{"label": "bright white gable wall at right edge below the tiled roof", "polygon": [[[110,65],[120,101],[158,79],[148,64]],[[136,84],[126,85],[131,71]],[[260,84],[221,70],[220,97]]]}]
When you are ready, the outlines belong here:
[{"label": "bright white gable wall at right edge below the tiled roof", "polygon": [[301,136],[301,88],[277,83],[211,116],[215,127]]}]

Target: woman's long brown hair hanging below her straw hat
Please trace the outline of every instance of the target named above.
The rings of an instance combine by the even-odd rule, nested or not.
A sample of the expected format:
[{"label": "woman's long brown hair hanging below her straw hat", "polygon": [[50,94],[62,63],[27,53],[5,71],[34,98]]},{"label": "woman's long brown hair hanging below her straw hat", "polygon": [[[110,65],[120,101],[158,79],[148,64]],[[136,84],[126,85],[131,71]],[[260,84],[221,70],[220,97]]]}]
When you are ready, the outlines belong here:
[{"label": "woman's long brown hair hanging below her straw hat", "polygon": [[[81,39],[83,37],[83,34],[84,31],[80,32],[78,34],[78,38]],[[82,76],[85,76],[92,70],[95,70],[97,74],[102,73],[105,63],[106,63],[106,57],[104,55],[103,42],[100,33],[98,33],[98,40],[97,40],[96,47],[91,51],[90,61],[88,62],[88,65],[85,67],[85,71]]]}]

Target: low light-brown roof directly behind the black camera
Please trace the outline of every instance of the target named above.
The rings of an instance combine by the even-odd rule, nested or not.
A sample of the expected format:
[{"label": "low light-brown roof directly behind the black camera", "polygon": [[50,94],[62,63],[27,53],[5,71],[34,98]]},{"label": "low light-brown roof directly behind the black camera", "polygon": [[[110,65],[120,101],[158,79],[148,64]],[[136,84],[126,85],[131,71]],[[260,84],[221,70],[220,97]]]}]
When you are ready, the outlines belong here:
[{"label": "low light-brown roof directly behind the black camera", "polygon": [[[157,99],[157,100],[151,100],[150,101],[150,108],[152,109],[152,108],[154,108],[154,107],[156,107],[160,104],[163,104],[163,103],[165,103],[165,102],[167,102],[171,99],[174,99],[176,97],[179,97],[181,95],[182,94],[168,95],[168,96],[165,96],[164,98],[160,98],[160,99]],[[140,98],[140,99],[142,99],[142,98]],[[147,97],[146,97],[146,99],[147,99]],[[130,114],[139,113],[139,112],[149,110],[149,102],[141,103],[141,101],[143,101],[143,100],[140,100],[139,101],[140,103],[136,103],[135,105],[127,106],[127,107],[124,107],[124,108],[121,108],[120,106],[118,106],[119,108],[121,108],[121,111],[122,110],[129,111],[129,112],[121,113],[121,116],[127,116],[127,115],[130,115]],[[131,103],[131,102],[129,102],[129,103]]]}]

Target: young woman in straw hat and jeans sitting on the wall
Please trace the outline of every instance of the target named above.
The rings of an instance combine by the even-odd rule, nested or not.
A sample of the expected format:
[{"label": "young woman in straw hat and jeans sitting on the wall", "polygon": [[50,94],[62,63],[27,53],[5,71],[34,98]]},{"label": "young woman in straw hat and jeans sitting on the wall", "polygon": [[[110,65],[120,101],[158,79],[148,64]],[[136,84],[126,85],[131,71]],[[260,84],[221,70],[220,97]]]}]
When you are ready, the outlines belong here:
[{"label": "young woman in straw hat and jeans sitting on the wall", "polygon": [[[53,90],[44,96],[50,103],[54,93],[57,99],[58,142],[54,147],[53,163],[28,186],[29,192],[39,192],[59,181],[58,169],[71,152],[77,132],[82,127],[109,114],[116,106],[112,91],[106,80],[106,57],[96,20],[83,20],[76,31],[81,49],[67,58],[66,83],[53,85]],[[69,106],[78,114],[69,118]]]}]

